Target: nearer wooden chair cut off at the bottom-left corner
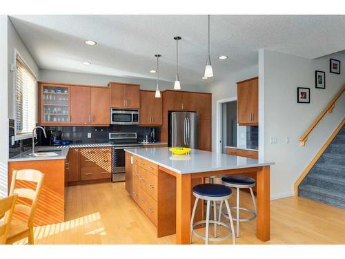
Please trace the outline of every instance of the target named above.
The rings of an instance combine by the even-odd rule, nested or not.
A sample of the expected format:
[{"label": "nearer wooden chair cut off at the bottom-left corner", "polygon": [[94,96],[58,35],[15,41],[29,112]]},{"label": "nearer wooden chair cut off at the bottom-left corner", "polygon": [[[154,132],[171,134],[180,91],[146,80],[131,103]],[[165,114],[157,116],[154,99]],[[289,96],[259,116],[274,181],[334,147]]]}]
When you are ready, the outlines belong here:
[{"label": "nearer wooden chair cut off at the bottom-left corner", "polygon": [[6,244],[17,194],[0,199],[0,244]]}]

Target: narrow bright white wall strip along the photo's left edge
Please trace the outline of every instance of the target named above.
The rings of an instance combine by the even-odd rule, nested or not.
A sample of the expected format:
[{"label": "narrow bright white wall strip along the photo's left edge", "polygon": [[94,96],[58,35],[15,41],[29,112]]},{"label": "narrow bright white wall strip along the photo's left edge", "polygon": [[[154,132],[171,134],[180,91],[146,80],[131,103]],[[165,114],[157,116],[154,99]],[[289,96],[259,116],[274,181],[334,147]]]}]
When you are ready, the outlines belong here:
[{"label": "narrow bright white wall strip along the photo's left edge", "polygon": [[8,17],[0,15],[0,197],[7,195],[8,186],[7,24]]}]

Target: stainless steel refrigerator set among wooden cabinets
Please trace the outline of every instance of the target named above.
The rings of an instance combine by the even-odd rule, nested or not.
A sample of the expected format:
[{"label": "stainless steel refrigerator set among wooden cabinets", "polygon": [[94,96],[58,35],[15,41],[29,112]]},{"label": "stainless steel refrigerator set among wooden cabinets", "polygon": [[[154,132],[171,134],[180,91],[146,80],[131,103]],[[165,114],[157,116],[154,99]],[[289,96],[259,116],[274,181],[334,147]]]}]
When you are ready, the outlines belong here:
[{"label": "stainless steel refrigerator set among wooden cabinets", "polygon": [[199,113],[168,113],[168,145],[199,148]]}]

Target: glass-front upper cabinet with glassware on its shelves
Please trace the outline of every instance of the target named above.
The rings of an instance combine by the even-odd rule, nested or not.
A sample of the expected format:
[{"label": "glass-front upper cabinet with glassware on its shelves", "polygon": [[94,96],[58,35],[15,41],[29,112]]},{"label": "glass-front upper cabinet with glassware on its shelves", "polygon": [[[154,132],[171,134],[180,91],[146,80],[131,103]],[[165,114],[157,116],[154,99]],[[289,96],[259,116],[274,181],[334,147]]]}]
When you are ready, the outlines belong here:
[{"label": "glass-front upper cabinet with glassware on its shelves", "polygon": [[39,124],[70,124],[70,86],[39,83]]}]

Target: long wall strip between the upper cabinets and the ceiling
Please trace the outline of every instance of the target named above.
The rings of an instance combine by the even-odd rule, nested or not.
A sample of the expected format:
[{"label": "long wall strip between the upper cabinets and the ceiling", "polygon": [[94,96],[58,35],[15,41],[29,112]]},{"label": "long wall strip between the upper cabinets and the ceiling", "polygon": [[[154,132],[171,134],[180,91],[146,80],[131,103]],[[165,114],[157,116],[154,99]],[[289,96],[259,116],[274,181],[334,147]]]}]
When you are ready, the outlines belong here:
[{"label": "long wall strip between the upper cabinets and the ceiling", "polygon": [[[84,73],[72,73],[59,70],[46,70],[41,69],[39,72],[40,81],[52,81],[58,83],[67,83],[67,84],[88,84],[96,86],[106,86],[110,81],[117,81],[122,83],[132,83],[140,84],[141,89],[145,90],[155,90],[156,89],[156,80],[144,79],[144,78],[131,78],[131,77],[112,77],[110,75],[92,75]],[[166,90],[172,89],[173,83],[168,81],[159,81],[159,89]],[[204,86],[197,86],[193,84],[184,84],[181,81],[182,90],[192,90],[205,92]],[[207,92],[207,90],[206,90]]]}]

